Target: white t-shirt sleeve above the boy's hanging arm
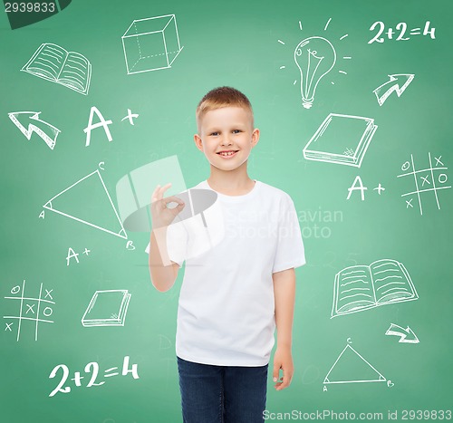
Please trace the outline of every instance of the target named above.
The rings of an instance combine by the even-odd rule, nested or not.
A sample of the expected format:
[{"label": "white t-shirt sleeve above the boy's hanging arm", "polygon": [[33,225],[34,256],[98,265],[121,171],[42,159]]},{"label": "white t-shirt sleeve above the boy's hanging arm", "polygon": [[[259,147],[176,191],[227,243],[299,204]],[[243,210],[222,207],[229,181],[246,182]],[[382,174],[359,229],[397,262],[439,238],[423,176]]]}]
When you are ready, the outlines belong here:
[{"label": "white t-shirt sleeve above the boy's hanging arm", "polygon": [[293,200],[287,194],[282,199],[280,207],[276,243],[273,274],[306,263],[299,220]]}]

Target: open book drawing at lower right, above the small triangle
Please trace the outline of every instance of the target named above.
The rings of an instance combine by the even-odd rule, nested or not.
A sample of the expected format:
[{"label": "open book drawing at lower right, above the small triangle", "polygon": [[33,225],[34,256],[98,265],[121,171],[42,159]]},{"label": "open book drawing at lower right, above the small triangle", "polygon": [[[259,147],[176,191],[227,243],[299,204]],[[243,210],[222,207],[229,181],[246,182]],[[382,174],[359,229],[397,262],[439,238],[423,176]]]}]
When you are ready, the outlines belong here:
[{"label": "open book drawing at lower right, above the small triangle", "polygon": [[383,259],[369,266],[355,265],[335,275],[332,317],[418,298],[410,274],[400,262]]}]

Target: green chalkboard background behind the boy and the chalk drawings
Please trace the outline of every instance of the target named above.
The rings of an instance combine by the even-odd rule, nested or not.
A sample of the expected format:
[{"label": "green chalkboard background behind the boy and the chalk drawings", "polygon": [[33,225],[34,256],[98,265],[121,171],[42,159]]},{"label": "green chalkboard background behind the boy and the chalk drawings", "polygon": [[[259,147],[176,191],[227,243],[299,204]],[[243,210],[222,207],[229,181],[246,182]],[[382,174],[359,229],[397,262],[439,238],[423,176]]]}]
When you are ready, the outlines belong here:
[{"label": "green chalkboard background behind the boy and the chalk drawings", "polygon": [[[428,175],[424,187],[431,186],[430,153],[433,166],[441,157],[447,168],[443,185],[453,178],[452,11],[449,0],[72,0],[60,13],[14,30],[2,14],[0,420],[181,421],[174,336],[184,272],[168,293],[159,293],[149,282],[144,253],[149,234],[128,231],[128,249],[126,239],[43,205],[101,162],[115,205],[120,178],[158,159],[177,155],[187,187],[206,179],[207,160],[193,143],[194,114],[199,99],[220,85],[234,86],[252,101],[261,139],[249,159],[249,175],[293,197],[304,234],[307,264],[296,270],[294,380],[276,392],[269,378],[267,409],[275,413],[269,416],[326,410],[356,418],[361,412],[382,413],[387,420],[389,411],[402,418],[403,410],[433,410],[440,418],[444,410],[448,418],[446,410],[453,407],[453,189],[439,190],[439,207],[433,191],[420,193],[421,215],[418,196],[412,196],[414,207],[406,203],[410,196],[401,197],[415,191],[413,178],[397,176],[412,155],[417,169],[427,169],[417,174],[419,184]],[[134,19],[164,14],[176,15],[182,52],[170,69],[128,75],[121,35]],[[385,24],[383,43],[369,43],[377,21]],[[414,28],[423,32],[427,21],[435,38],[410,34]],[[400,31],[390,39],[388,29],[400,23],[407,24],[404,38],[409,39],[397,41]],[[333,43],[338,58],[306,110],[294,48],[314,35]],[[88,95],[20,72],[42,43],[90,60]],[[394,73],[415,78],[400,97],[393,92],[380,106],[373,90]],[[92,106],[111,120],[112,140],[101,128],[92,130],[86,147],[83,129]],[[122,120],[128,109],[140,115],[134,125]],[[16,111],[41,111],[42,120],[61,130],[54,149],[36,133],[27,140],[8,117]],[[372,118],[378,126],[361,168],[304,159],[304,146],[331,112]],[[360,191],[347,199],[357,176],[367,187],[363,201]],[[374,189],[379,184],[385,188],[381,194]],[[87,190],[68,207],[101,220],[104,200]],[[72,258],[68,265],[70,248],[79,263]],[[419,299],[331,319],[335,274],[382,258],[406,266]],[[5,298],[14,296],[14,287],[20,295],[23,286],[28,299],[22,307]],[[49,292],[53,303],[41,302],[40,317],[50,304],[46,314],[52,313],[53,323],[40,322],[35,341],[34,321],[23,320],[18,336],[19,320],[11,316],[35,317],[41,287],[42,298]],[[131,294],[125,325],[83,327],[93,293],[119,289]],[[391,323],[410,326],[419,343],[386,336]],[[324,384],[348,342],[386,381]],[[137,364],[140,379],[131,373],[104,377],[108,369],[121,371],[126,356],[130,368]],[[104,381],[101,386],[86,386],[95,367],[85,372],[90,362],[99,365],[95,382]],[[49,378],[59,364],[69,369],[63,387],[71,391],[49,397],[63,377],[60,369]],[[76,372],[84,378],[79,387]]]}]

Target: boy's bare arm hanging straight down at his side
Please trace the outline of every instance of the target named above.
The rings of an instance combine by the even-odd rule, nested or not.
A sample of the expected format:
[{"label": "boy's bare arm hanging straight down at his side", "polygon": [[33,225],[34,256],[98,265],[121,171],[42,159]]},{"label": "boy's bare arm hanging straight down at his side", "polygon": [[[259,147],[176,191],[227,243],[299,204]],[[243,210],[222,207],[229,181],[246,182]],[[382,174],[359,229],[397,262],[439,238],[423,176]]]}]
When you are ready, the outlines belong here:
[{"label": "boy's bare arm hanging straight down at his side", "polygon": [[[277,348],[274,355],[273,378],[276,390],[287,388],[293,379],[294,365],[291,354],[295,272],[294,268],[272,274],[275,296],[275,325],[277,328]],[[278,379],[280,369],[283,377]],[[277,381],[278,380],[278,381]]]}]

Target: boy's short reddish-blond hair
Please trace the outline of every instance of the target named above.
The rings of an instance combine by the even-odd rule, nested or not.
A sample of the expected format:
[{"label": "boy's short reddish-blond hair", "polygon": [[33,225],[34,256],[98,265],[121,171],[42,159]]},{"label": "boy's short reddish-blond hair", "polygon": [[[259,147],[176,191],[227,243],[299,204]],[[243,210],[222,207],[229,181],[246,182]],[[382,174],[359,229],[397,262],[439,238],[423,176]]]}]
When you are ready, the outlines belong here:
[{"label": "boy's short reddish-blond hair", "polygon": [[215,111],[222,107],[242,107],[250,111],[252,117],[252,127],[254,125],[254,112],[252,104],[246,95],[232,87],[217,87],[207,94],[198,103],[196,116],[199,130],[199,122],[208,111]]}]

